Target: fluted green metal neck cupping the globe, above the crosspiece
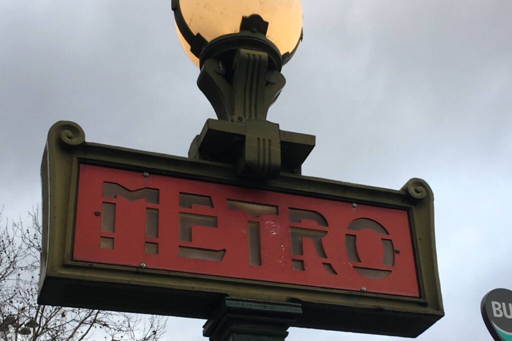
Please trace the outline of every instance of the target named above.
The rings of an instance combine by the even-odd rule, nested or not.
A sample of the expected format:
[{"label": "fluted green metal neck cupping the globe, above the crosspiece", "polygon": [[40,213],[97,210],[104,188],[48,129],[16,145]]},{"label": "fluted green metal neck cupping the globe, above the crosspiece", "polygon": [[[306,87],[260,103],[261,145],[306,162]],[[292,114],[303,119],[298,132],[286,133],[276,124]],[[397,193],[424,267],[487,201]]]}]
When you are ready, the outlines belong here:
[{"label": "fluted green metal neck cupping the globe, above the crosspiece", "polygon": [[219,120],[266,120],[286,80],[281,53],[266,38],[268,22],[257,14],[243,17],[240,32],[204,46],[197,84]]}]

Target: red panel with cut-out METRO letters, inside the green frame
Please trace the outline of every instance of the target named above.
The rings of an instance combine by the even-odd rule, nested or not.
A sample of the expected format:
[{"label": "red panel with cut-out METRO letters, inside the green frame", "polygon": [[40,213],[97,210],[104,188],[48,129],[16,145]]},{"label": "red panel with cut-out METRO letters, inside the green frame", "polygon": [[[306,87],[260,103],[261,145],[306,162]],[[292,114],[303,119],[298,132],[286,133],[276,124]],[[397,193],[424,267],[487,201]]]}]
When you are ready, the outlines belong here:
[{"label": "red panel with cut-out METRO letters, inside the green frame", "polygon": [[75,261],[418,297],[411,240],[403,210],[80,166]]}]

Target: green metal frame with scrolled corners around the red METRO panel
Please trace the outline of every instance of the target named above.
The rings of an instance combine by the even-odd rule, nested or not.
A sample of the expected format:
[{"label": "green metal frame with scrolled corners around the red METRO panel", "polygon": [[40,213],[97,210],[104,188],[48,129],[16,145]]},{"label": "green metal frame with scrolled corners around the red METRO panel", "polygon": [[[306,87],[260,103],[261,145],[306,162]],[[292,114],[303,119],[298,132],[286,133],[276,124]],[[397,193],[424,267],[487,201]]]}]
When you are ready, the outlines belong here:
[{"label": "green metal frame with scrolled corners around the red METRO panel", "polygon": [[[80,164],[406,210],[412,226],[419,298],[76,262],[72,259]],[[42,165],[43,241],[40,304],[209,319],[225,297],[300,303],[293,326],[415,337],[443,316],[433,193],[413,178],[400,190],[281,172],[241,178],[236,165],[190,160],[85,142],[83,130],[60,121],[48,133]]]}]

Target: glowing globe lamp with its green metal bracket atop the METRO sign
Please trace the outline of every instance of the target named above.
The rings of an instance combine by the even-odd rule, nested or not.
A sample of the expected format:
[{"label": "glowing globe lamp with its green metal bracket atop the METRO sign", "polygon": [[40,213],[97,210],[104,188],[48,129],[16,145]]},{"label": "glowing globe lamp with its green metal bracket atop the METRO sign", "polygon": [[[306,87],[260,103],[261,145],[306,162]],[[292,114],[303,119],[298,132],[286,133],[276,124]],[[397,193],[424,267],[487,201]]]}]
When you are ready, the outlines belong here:
[{"label": "glowing globe lamp with its green metal bracket atop the METRO sign", "polygon": [[198,86],[219,119],[206,122],[189,157],[237,164],[252,178],[300,173],[314,137],[267,121],[286,82],[281,69],[302,39],[300,0],[174,0],[173,10],[179,41],[200,67]]}]

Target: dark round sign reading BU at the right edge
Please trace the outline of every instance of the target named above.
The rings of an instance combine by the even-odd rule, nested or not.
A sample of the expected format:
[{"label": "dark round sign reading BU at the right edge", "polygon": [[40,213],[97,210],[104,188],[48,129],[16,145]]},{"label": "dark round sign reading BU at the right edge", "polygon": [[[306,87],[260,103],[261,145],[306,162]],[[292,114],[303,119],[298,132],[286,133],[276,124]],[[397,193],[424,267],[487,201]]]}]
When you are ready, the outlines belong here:
[{"label": "dark round sign reading BU at the right edge", "polygon": [[495,341],[512,341],[512,291],[489,291],[480,305],[483,321]]}]

